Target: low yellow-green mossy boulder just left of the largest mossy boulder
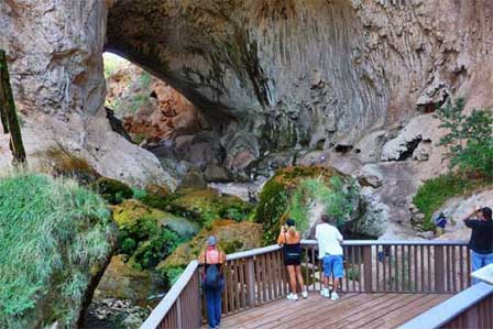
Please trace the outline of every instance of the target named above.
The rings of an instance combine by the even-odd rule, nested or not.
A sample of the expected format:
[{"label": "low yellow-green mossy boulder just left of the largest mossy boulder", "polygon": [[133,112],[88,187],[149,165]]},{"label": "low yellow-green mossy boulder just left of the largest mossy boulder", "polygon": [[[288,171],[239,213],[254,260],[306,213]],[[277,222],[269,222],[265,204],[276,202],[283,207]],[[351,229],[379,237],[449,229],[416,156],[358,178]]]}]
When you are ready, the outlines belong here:
[{"label": "low yellow-green mossy boulder just left of the largest mossy boulder", "polygon": [[215,219],[244,220],[252,206],[237,196],[219,194],[215,189],[182,189],[169,202],[172,212],[194,218],[201,224],[210,224]]}]

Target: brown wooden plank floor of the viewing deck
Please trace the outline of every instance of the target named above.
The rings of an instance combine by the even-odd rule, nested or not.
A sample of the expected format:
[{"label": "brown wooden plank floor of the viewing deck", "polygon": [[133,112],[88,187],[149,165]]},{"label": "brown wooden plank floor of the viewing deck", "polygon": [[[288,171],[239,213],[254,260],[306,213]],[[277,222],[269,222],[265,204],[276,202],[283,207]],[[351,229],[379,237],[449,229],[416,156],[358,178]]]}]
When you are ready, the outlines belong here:
[{"label": "brown wooden plank floor of the viewing deck", "polygon": [[223,317],[221,328],[396,328],[449,297],[451,294],[341,294],[332,301],[313,293],[307,299],[280,299]]}]

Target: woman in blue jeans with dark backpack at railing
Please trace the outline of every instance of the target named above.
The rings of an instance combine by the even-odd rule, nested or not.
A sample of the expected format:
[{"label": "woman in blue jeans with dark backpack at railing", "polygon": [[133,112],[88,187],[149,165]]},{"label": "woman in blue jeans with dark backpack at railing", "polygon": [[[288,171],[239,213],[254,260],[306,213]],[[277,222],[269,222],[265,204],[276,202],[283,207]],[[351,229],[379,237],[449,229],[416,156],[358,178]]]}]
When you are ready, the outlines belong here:
[{"label": "woman in blue jeans with dark backpack at railing", "polygon": [[209,237],[206,250],[199,256],[199,263],[202,264],[202,287],[209,329],[219,328],[221,322],[221,294],[224,285],[222,264],[224,262],[226,254],[217,245],[216,237]]}]

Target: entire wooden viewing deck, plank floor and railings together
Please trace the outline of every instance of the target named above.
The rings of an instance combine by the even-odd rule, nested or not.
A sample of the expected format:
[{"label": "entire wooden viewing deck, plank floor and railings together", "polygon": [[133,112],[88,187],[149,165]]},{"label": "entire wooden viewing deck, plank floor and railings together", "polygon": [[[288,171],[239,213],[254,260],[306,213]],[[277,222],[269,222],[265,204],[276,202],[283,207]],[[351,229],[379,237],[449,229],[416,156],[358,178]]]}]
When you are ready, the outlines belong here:
[{"label": "entire wooden viewing deck, plank floor and railings together", "polygon": [[[304,241],[303,249],[303,274],[313,294],[299,301],[285,299],[288,284],[280,246],[229,255],[222,327],[493,326],[493,287],[471,286],[470,251],[464,242],[346,241],[347,275],[338,301],[318,294],[322,273],[316,241]],[[141,329],[201,328],[205,308],[199,273],[198,262],[191,262]]]}]

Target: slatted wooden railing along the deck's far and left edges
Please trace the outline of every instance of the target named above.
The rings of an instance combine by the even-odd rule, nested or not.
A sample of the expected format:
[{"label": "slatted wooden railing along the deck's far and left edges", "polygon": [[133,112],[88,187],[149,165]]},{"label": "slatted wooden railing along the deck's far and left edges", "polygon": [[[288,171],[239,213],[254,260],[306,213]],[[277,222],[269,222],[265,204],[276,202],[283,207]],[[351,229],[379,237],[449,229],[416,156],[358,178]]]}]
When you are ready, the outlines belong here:
[{"label": "slatted wooden railing along the deck's far and left edges", "polygon": [[[305,287],[315,292],[322,279],[316,241],[303,241],[303,250]],[[346,276],[340,288],[344,293],[457,293],[470,286],[470,253],[464,242],[344,241],[343,251]],[[224,315],[288,294],[283,253],[277,245],[228,255],[223,273]],[[204,308],[197,301],[199,290],[199,268],[191,262],[141,328],[200,327],[197,323]]]}]

